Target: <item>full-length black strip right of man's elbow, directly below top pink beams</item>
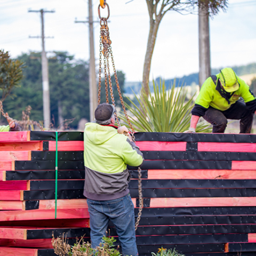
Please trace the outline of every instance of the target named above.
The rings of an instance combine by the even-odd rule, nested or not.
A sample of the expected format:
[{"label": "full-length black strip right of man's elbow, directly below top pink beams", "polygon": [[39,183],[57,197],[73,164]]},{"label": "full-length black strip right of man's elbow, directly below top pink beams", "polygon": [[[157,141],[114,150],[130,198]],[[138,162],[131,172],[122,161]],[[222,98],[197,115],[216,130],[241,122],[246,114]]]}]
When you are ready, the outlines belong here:
[{"label": "full-length black strip right of man's elbow, directly below top pink beams", "polygon": [[142,151],[146,160],[255,161],[253,152]]}]

